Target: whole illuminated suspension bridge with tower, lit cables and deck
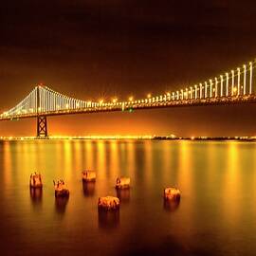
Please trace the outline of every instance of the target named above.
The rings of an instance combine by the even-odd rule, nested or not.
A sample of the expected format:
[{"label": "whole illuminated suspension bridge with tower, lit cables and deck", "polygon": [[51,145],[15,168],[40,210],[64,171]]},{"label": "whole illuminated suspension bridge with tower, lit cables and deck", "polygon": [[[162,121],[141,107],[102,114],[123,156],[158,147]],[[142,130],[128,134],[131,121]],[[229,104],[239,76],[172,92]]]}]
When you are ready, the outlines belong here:
[{"label": "whole illuminated suspension bridge with tower, lit cables and deck", "polygon": [[0,120],[37,119],[37,137],[47,137],[47,117],[82,113],[132,111],[160,107],[218,105],[256,102],[256,61],[244,64],[214,79],[180,90],[127,101],[82,101],[43,85],[37,85],[17,105],[0,115]]}]

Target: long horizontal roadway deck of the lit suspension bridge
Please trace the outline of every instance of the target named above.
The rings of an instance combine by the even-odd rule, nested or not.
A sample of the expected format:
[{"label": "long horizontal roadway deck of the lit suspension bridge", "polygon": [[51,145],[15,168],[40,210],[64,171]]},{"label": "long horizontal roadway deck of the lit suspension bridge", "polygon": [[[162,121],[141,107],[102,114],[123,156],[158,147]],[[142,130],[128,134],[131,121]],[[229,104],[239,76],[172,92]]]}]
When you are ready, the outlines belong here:
[{"label": "long horizontal roadway deck of the lit suspension bridge", "polygon": [[74,115],[74,114],[91,114],[101,112],[114,112],[114,111],[129,111],[139,109],[156,109],[156,108],[168,108],[168,107],[186,107],[186,106],[207,106],[207,105],[228,105],[238,103],[253,103],[256,102],[256,95],[243,95],[243,96],[222,96],[216,98],[206,99],[189,99],[189,100],[172,100],[172,101],[155,101],[147,103],[132,103],[132,102],[117,102],[109,103],[109,105],[86,107],[80,109],[67,109],[56,110],[48,112],[34,112],[34,113],[22,113],[20,115],[12,116],[0,116],[0,120],[15,120],[15,119],[30,119],[37,118],[39,116],[61,116],[61,115]]}]

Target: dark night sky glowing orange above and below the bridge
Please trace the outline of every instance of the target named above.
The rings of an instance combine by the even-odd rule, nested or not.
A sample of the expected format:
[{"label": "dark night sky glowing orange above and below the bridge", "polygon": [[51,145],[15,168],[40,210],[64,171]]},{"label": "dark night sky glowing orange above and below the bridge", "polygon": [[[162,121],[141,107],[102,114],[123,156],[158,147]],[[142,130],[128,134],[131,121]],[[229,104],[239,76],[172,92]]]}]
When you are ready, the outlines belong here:
[{"label": "dark night sky glowing orange above and below the bridge", "polygon": [[[5,3],[6,2],[6,3]],[[81,100],[126,100],[204,82],[256,54],[255,1],[5,1],[0,110],[39,82]],[[256,81],[255,81],[256,88]],[[255,104],[49,119],[50,135],[256,136]],[[0,135],[35,135],[35,120]]]}]

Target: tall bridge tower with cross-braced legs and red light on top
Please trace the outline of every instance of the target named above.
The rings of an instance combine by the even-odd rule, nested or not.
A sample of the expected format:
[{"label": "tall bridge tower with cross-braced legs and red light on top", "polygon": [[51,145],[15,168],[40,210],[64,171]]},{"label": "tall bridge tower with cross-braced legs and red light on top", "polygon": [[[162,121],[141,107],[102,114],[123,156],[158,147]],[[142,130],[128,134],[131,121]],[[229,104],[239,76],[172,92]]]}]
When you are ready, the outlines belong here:
[{"label": "tall bridge tower with cross-braced legs and red light on top", "polygon": [[46,116],[40,115],[40,86],[36,87],[36,112],[37,112],[37,137],[38,138],[46,138],[48,137],[47,132],[47,119]]}]

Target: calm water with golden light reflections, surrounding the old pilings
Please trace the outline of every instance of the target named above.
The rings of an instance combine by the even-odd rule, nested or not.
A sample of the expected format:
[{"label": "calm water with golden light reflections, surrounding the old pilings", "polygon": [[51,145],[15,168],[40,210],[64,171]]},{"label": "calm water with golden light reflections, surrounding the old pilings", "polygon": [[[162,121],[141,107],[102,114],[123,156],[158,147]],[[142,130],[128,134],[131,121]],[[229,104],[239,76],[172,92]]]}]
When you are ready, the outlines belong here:
[{"label": "calm water with golden light reflections, surrounding the old pilings", "polygon": [[[1,255],[255,255],[256,144],[192,141],[1,142]],[[83,169],[97,172],[82,186]],[[29,192],[29,174],[44,176]],[[131,177],[119,213],[99,214],[99,196]],[[69,200],[56,201],[64,178]],[[162,192],[182,192],[176,209]]]}]

